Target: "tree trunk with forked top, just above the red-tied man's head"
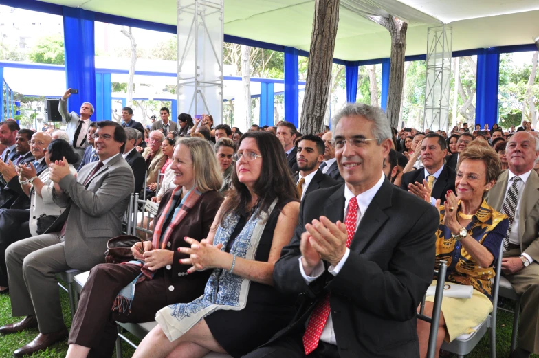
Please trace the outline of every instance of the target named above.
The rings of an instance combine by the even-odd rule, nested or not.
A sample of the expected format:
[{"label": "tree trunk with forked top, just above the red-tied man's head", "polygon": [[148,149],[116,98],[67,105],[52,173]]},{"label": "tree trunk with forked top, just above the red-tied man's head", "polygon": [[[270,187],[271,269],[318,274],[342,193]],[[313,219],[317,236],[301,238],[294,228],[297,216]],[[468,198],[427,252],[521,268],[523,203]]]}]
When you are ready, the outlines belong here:
[{"label": "tree trunk with forked top, just above the red-tied man's head", "polygon": [[391,34],[391,67],[386,114],[390,125],[397,128],[401,110],[402,87],[404,85],[404,54],[406,52],[408,23],[397,19],[395,16],[371,16],[371,19],[386,27]]}]

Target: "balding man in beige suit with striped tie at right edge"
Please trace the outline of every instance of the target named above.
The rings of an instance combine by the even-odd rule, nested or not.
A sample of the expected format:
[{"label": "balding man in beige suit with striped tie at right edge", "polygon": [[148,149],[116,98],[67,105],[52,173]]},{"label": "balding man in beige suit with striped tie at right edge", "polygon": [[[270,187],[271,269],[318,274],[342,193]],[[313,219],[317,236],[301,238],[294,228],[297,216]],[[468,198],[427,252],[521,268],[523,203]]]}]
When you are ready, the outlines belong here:
[{"label": "balding man in beige suit with striped tie at right edge", "polygon": [[509,216],[502,271],[522,298],[518,347],[512,358],[539,354],[539,175],[533,170],[538,157],[535,137],[525,131],[513,135],[507,142],[509,170],[487,194],[489,205]]}]

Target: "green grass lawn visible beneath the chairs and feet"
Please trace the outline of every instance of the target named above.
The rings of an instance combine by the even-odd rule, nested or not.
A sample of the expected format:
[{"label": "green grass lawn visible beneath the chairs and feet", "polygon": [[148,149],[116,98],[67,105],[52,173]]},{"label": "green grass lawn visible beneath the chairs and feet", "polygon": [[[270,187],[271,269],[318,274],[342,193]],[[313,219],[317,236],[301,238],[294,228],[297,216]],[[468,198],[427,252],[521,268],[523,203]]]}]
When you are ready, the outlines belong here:
[{"label": "green grass lawn visible beneath the chairs and feet", "polygon": [[[65,324],[69,327],[71,326],[71,314],[69,313],[69,300],[67,298],[67,293],[61,290],[61,300],[64,313]],[[506,302],[503,306],[507,309],[512,309],[512,302]],[[10,298],[9,295],[0,295],[0,326],[3,324],[10,324],[16,322],[17,319],[14,319],[11,316],[10,308]],[[496,356],[498,358],[507,358],[509,357],[509,346],[511,345],[511,329],[513,324],[513,315],[505,311],[498,310],[498,323],[496,329]],[[12,357],[12,353],[17,348],[24,346],[30,342],[38,334],[37,328],[32,329],[31,331],[21,332],[13,335],[3,335],[0,336],[0,358]],[[135,344],[138,343],[138,339],[126,333],[126,335],[131,339]],[[490,338],[489,335],[485,335],[481,342],[476,346],[474,351],[467,355],[470,358],[487,358],[490,356],[489,350]],[[122,341],[122,352],[123,357],[131,357],[133,355],[133,348]],[[67,341],[55,344],[50,347],[48,350],[35,353],[32,357],[43,357],[43,358],[63,358],[67,353]],[[115,357],[115,353],[113,357]],[[456,356],[455,356],[456,357]],[[533,358],[539,358],[539,355],[531,355]],[[396,357],[397,358],[397,357]]]}]

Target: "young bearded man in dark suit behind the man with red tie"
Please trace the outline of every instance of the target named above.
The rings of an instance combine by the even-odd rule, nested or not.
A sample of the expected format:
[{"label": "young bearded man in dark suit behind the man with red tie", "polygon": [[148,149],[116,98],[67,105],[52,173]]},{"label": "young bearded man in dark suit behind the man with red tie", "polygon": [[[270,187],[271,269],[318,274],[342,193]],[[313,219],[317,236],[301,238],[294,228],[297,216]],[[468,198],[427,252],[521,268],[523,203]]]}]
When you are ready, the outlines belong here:
[{"label": "young bearded man in dark suit behind the man with red tie", "polygon": [[322,170],[318,170],[324,158],[324,150],[324,142],[316,135],[304,135],[298,142],[296,157],[299,172],[294,175],[294,180],[301,200],[305,195],[317,189],[329,188],[338,184],[338,181],[322,173]]}]

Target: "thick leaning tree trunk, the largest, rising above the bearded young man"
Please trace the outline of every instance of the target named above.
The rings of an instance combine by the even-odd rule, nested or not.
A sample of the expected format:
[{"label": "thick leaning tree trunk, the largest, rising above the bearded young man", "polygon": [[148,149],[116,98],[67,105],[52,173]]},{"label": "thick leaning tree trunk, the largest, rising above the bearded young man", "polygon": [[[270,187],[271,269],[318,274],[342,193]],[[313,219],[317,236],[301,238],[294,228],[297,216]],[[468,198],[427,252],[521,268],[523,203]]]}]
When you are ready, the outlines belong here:
[{"label": "thick leaning tree trunk, the largest, rising above the bearded young man", "polygon": [[307,84],[300,115],[300,132],[320,133],[331,86],[333,50],[339,23],[339,0],[316,0]]}]

